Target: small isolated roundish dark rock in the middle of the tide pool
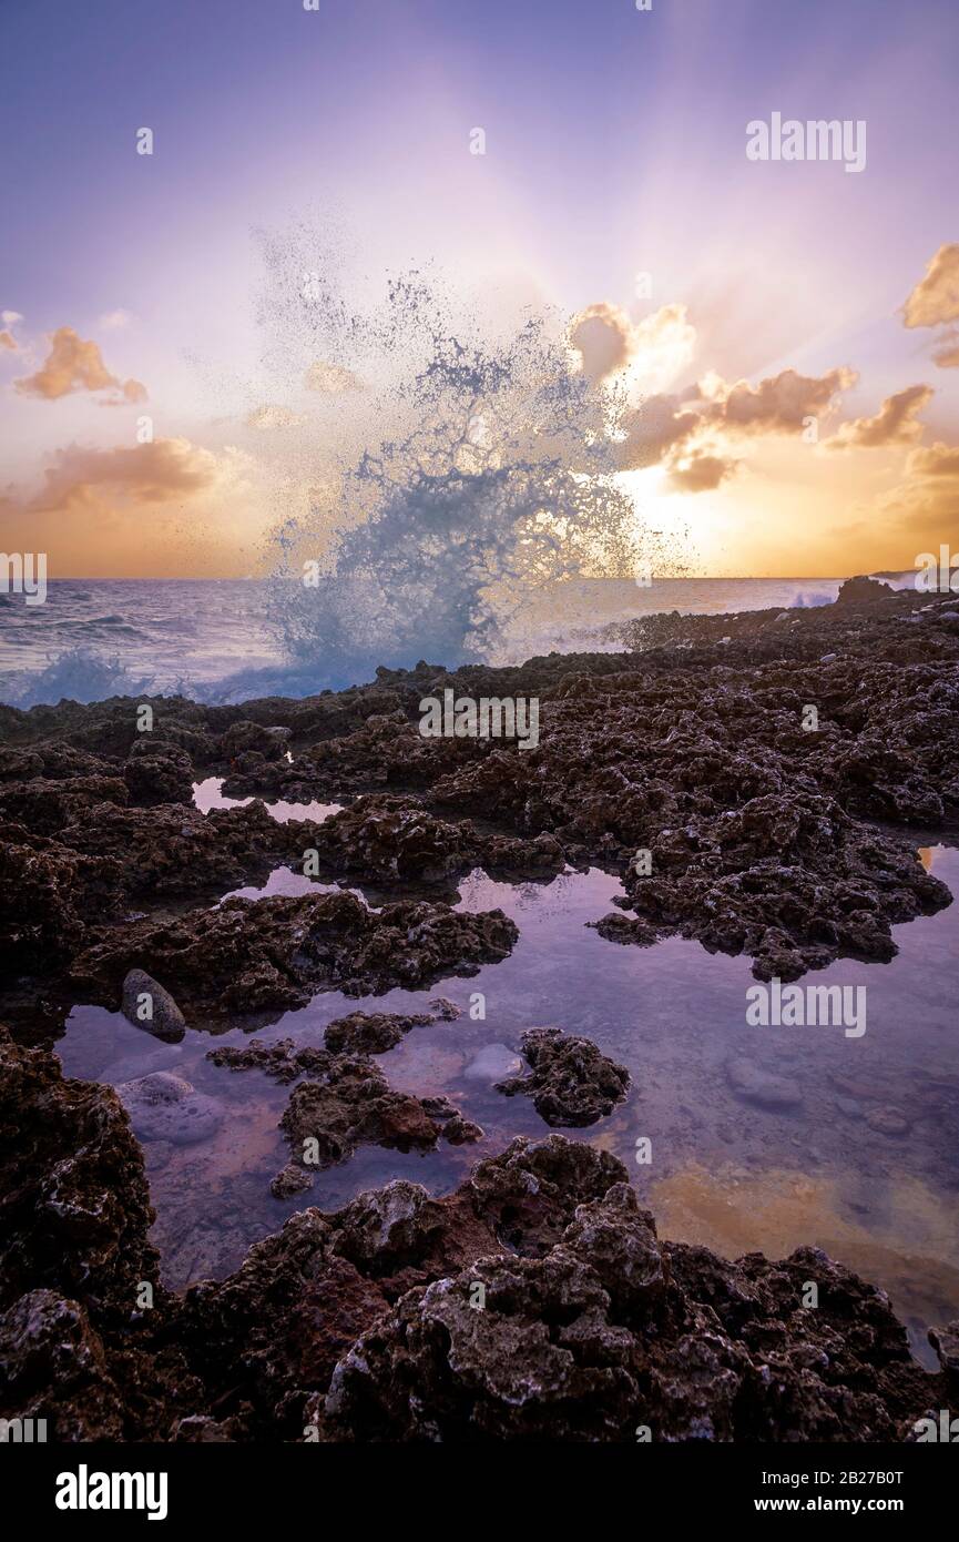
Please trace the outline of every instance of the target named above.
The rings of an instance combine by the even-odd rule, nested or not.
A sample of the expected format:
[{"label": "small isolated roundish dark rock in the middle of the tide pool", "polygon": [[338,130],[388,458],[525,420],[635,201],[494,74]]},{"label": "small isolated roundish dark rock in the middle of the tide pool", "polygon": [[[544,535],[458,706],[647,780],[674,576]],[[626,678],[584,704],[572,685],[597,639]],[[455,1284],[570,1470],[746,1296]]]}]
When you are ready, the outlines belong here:
[{"label": "small isolated roundish dark rock in the middle of the tide pool", "polygon": [[600,1052],[591,1039],[572,1038],[563,1029],[529,1029],[523,1053],[530,1072],[496,1084],[513,1098],[532,1098],[547,1124],[595,1124],[623,1103],[629,1072]]}]

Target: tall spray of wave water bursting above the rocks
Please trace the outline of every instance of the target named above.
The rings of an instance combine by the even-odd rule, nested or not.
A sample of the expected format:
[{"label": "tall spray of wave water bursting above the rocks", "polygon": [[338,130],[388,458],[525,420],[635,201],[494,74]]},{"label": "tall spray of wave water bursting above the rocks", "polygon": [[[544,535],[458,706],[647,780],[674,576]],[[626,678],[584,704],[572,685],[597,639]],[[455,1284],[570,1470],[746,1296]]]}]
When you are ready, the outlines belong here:
[{"label": "tall spray of wave water bursting above the rocks", "polygon": [[422,657],[500,662],[533,595],[661,560],[615,478],[626,402],[581,373],[560,316],[480,321],[421,271],[356,310],[335,270],[307,265],[302,230],[265,256],[267,355],[302,369],[307,342],[313,373],[348,381],[308,467],[318,490],[273,532],[268,617],[313,688]]}]

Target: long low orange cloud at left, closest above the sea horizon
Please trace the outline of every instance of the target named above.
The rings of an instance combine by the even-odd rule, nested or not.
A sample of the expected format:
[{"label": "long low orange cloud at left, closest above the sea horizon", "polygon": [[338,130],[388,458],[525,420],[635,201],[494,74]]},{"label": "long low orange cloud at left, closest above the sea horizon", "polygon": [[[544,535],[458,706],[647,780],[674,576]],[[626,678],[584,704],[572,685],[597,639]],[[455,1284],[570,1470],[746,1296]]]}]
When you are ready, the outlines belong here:
[{"label": "long low orange cloud at left, closest above the sea horizon", "polygon": [[29,506],[37,512],[69,510],[99,504],[109,493],[134,506],[168,503],[210,492],[222,481],[217,456],[190,439],[154,439],[111,450],[71,444],[57,452]]}]

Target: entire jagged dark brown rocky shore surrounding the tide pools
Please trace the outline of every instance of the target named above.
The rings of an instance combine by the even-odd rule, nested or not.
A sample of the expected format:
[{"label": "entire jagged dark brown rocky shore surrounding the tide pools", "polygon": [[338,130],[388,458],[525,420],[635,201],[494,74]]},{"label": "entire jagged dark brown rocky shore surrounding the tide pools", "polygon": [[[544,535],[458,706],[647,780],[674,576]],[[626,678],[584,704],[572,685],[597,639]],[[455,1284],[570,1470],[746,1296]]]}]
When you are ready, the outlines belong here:
[{"label": "entire jagged dark brown rocky shore surrounding the tide pools", "polygon": [[[760,981],[888,961],[893,925],[950,902],[910,831],[959,830],[954,598],[856,580],[834,606],[649,617],[617,641],[305,700],[0,706],[0,1416],[60,1440],[905,1440],[954,1403],[957,1323],[924,1371],[887,1297],[825,1254],[661,1241],[621,1163],[561,1135],[442,1198],[396,1180],[305,1207],[173,1294],[130,1109],[176,1089],[60,1073],[72,1004],[119,1010],[137,982],[163,987],[150,1027],[176,1036],[496,964],[515,924],[452,908],[476,867],[603,867],[624,888],[597,922],[611,947],[683,936]],[[537,695],[538,748],[421,737],[419,700],[450,686]],[[205,777],[251,802],[202,814]],[[265,806],[318,799],[345,806]],[[278,864],[318,893],[224,897]],[[291,1087],[274,1194],[310,1187],[305,1138],[319,1166],[476,1138],[372,1058],[416,1021],[358,1012],[324,1049],[211,1052]],[[500,1090],[546,1126],[601,1119],[629,1082],[575,1022],[523,1050]]]}]

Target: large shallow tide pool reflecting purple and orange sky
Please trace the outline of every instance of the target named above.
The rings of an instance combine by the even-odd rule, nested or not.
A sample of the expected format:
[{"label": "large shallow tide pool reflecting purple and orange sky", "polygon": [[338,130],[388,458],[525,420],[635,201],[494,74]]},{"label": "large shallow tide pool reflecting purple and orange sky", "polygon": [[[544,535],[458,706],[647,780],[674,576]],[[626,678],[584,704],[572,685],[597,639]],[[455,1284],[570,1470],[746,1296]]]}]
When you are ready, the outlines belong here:
[{"label": "large shallow tide pool reflecting purple and orange sky", "polygon": [[[934,848],[931,856],[956,891],[959,851]],[[288,870],[271,884],[270,893],[304,887]],[[446,1092],[486,1130],[478,1146],[441,1143],[427,1155],[362,1147],[291,1201],[267,1192],[287,1156],[276,1130],[287,1087],[259,1072],[211,1066],[205,1035],[159,1044],[114,1013],[77,1007],[60,1042],[69,1075],[116,1084],[176,1067],[227,1106],[211,1140],[153,1153],[145,1147],[156,1238],[171,1281],[234,1268],[250,1241],[304,1204],[330,1209],[393,1177],[446,1192],[513,1135],[546,1133],[529,1099],[504,1098],[469,1067],[486,1045],[517,1050],[524,1029],[557,1025],[629,1067],[628,1101],[607,1119],[567,1133],[628,1164],[661,1235],[729,1257],[822,1246],[890,1291],[928,1359],[925,1326],[959,1314],[959,1050],[950,1005],[959,995],[959,907],[897,927],[900,951],[891,964],[842,959],[805,976],[800,984],[866,985],[866,1033],[851,1039],[842,1027],[748,1027],[752,975],[745,958],[709,954],[675,938],[652,948],[606,942],[586,922],[612,910],[617,893],[617,879],[595,868],[546,885],[475,873],[461,885],[461,908],[498,905],[515,917],[520,941],[509,959],[426,992],[319,995],[261,1030],[267,1041],[321,1044],[325,1024],[345,1012],[422,1010],[430,996],[446,996],[463,1016],[413,1029],[379,1064],[395,1087],[421,1096]],[[473,992],[486,996],[486,1021],[469,1018]],[[231,1030],[217,1042],[241,1044],[244,1033]],[[783,1112],[743,1101],[725,1073],[731,1056],[786,1079],[800,1106]],[[905,1119],[903,1135],[873,1127],[885,1118],[877,1110],[888,1109]],[[640,1136],[652,1141],[649,1166],[635,1163]]]}]

